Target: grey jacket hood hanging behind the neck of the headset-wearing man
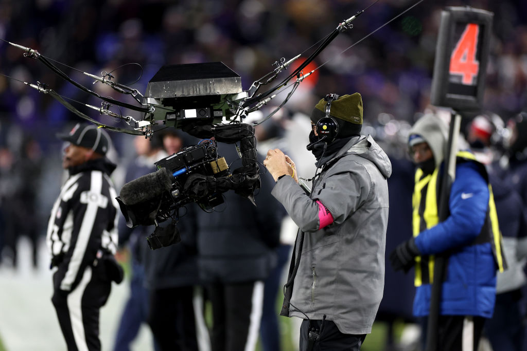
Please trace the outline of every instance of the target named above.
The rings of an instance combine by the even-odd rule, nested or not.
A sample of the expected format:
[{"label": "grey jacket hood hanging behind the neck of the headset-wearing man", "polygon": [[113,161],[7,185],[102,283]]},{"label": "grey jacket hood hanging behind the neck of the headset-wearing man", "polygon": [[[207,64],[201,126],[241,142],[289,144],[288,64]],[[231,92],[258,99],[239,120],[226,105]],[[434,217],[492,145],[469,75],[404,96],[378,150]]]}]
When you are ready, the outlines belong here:
[{"label": "grey jacket hood hanging behind the neck of the headset-wearing man", "polygon": [[388,155],[386,155],[383,149],[374,141],[371,135],[361,135],[351,138],[350,141],[340,149],[335,157],[343,154],[354,154],[366,158],[377,166],[380,173],[385,178],[389,178],[389,176],[392,175],[392,163],[390,162]]}]

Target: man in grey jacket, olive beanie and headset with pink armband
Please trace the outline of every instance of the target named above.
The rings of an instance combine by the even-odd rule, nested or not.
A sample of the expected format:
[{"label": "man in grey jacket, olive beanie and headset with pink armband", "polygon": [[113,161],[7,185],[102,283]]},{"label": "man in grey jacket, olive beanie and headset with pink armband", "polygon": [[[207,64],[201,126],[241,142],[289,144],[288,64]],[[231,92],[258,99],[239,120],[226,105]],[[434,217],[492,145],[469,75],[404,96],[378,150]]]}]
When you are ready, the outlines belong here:
[{"label": "man in grey jacket, olive beanie and headset with pink armband", "polygon": [[304,318],[302,351],[359,350],[382,298],[392,166],[371,136],[360,136],[362,122],[358,93],[330,94],[316,104],[308,149],[321,171],[310,195],[279,149],[270,149],[264,161],[277,182],[272,195],[304,232],[280,313]]}]

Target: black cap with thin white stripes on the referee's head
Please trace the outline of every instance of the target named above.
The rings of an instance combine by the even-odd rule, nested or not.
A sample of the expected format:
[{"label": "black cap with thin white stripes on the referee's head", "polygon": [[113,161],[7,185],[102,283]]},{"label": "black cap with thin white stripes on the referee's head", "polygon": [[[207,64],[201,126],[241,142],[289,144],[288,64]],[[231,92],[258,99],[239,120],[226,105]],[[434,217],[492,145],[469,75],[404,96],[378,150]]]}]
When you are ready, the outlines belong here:
[{"label": "black cap with thin white stripes on the referee's head", "polygon": [[70,133],[58,133],[57,138],[73,145],[87,147],[97,154],[106,155],[110,148],[110,136],[94,124],[77,123]]}]

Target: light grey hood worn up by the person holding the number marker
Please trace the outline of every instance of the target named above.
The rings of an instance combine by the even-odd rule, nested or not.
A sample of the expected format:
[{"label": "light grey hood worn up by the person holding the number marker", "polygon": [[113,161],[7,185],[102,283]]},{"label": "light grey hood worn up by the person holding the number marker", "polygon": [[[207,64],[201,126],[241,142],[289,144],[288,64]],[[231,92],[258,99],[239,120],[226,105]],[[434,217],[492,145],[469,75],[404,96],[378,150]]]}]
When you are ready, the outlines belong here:
[{"label": "light grey hood worn up by the person holding the number marker", "polygon": [[441,119],[433,114],[426,114],[415,122],[408,136],[417,134],[426,141],[434,154],[435,166],[439,166],[445,157],[448,128]]}]

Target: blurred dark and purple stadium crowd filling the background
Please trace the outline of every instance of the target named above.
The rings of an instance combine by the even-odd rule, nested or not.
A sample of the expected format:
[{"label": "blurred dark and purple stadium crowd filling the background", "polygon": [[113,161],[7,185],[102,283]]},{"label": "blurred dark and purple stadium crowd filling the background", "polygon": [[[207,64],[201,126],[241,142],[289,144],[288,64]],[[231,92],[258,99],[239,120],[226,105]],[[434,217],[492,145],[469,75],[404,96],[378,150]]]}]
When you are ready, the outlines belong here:
[{"label": "blurred dark and purple stadium crowd filling the background", "polygon": [[[281,57],[289,59],[300,53],[307,57],[312,45],[370,3],[3,0],[0,38],[34,48],[56,60],[63,72],[101,95],[133,103],[130,97],[106,85],[92,84],[93,79],[78,70],[95,75],[112,72],[115,81],[144,92],[162,65],[221,61],[242,77],[243,88],[247,89],[271,71],[272,63]],[[394,165],[392,180],[394,184],[400,180],[401,185],[391,189],[390,195],[401,199],[399,204],[407,206],[408,213],[413,175],[405,158],[405,132],[429,103],[437,29],[444,6],[469,5],[494,13],[484,109],[507,121],[527,105],[527,2],[522,0],[425,0],[346,50],[414,3],[415,0],[381,0],[370,7],[353,23],[353,29],[340,34],[309,66],[311,70],[323,65],[318,74],[300,85],[275,121],[266,122],[280,129],[288,125],[295,113],[309,114],[321,96],[360,92],[365,125],[369,125],[363,132],[375,134],[376,139],[391,146],[386,148],[387,153],[403,160],[401,165]],[[18,81],[47,84],[73,99],[77,108],[81,107],[75,101],[100,105],[93,96],[73,88],[40,62],[22,54],[20,49],[0,42],[0,265],[8,266],[16,265],[14,247],[19,235],[28,235],[35,241],[44,236],[47,217],[61,185],[57,177],[61,172],[61,143],[55,133],[79,121],[50,96]],[[284,97],[282,94],[276,100]],[[112,111],[141,117],[115,106]],[[124,126],[110,117],[83,112],[102,123]],[[115,146],[111,157],[121,169],[115,175],[115,183],[120,187],[124,169],[134,157],[133,138],[116,133],[111,133],[111,137]],[[292,147],[304,148],[305,144]],[[392,228],[409,228],[407,218],[408,223],[399,219],[401,223],[392,223]],[[407,233],[411,231],[408,229]],[[401,241],[392,240],[390,243],[388,236],[387,246]],[[407,278],[411,289],[411,277]],[[390,284],[388,273],[386,279]],[[403,303],[401,296],[404,295],[385,293],[388,302],[395,299],[392,306],[409,312],[412,296]],[[383,311],[387,315],[404,314],[397,308],[382,306],[379,316]]]}]

